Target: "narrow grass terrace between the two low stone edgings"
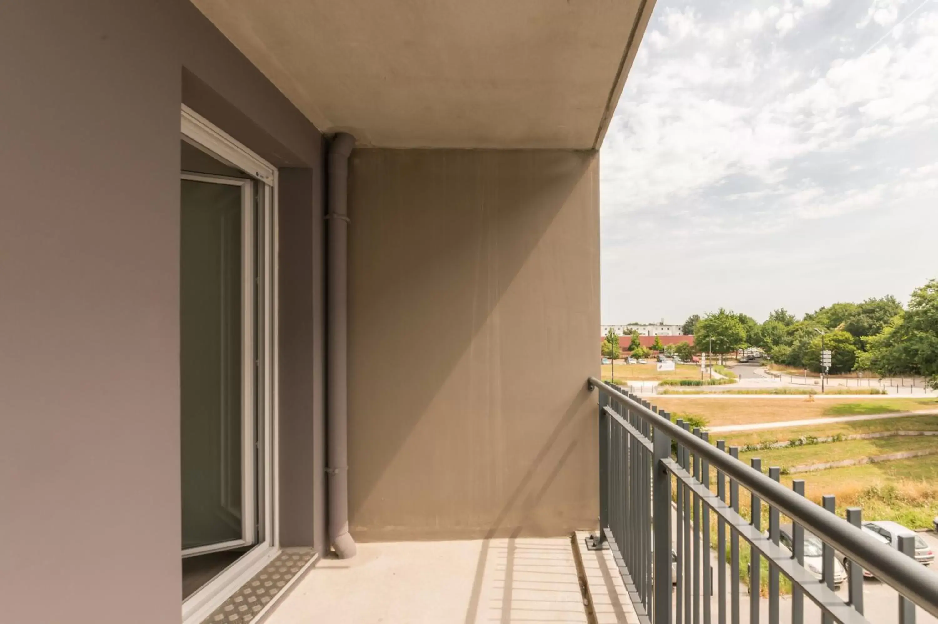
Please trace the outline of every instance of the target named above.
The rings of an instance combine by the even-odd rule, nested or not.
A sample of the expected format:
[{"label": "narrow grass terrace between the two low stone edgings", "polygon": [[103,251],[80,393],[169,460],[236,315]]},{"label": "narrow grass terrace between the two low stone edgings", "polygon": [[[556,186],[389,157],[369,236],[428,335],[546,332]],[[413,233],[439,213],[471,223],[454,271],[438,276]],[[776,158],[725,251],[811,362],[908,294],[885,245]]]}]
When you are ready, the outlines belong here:
[{"label": "narrow grass terrace between the two low stone edgings", "polygon": [[[877,455],[888,455],[889,453],[898,453],[903,450],[929,449],[938,451],[938,437],[930,435],[922,435],[920,437],[895,435],[892,437],[876,437],[865,440],[826,442],[784,449],[752,450],[739,453],[739,459],[749,464],[751,458],[761,457],[763,466],[767,470],[770,465],[788,468],[793,465],[840,462],[840,460],[856,459],[859,457],[876,457]],[[926,457],[922,457],[921,459],[926,459]]]}]

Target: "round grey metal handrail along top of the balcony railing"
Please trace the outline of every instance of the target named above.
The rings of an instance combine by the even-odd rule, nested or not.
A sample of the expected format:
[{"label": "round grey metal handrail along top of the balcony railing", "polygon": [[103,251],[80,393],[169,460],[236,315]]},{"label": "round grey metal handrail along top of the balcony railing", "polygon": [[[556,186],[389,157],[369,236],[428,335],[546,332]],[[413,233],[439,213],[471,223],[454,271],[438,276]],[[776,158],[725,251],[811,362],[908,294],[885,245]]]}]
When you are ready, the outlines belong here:
[{"label": "round grey metal handrail along top of the balcony railing", "polygon": [[[811,502],[804,496],[795,494],[779,482],[769,479],[760,471],[753,470],[722,452],[703,439],[685,431],[674,424],[670,417],[662,418],[642,403],[639,403],[613,388],[609,384],[589,377],[589,386],[602,388],[603,392],[616,400],[627,403],[629,409],[653,427],[661,429],[673,440],[691,449],[695,454],[705,457],[711,467],[718,469],[738,481],[752,494],[757,495],[794,522],[807,528],[811,533],[825,540],[844,555],[872,572],[887,585],[895,588],[901,595],[914,601],[918,606],[938,617],[938,575],[928,571],[914,558],[901,554],[898,550],[875,540],[862,529],[851,525],[846,520]],[[667,412],[664,412],[667,415]]]}]

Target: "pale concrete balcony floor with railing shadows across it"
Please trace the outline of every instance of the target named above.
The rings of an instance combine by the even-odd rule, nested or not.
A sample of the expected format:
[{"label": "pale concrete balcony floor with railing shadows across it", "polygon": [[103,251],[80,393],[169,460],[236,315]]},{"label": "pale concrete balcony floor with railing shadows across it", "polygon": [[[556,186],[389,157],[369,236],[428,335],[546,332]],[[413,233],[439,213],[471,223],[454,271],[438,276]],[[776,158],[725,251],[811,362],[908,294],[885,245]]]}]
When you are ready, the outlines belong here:
[{"label": "pale concrete balcony floor with railing shadows across it", "polygon": [[358,544],[321,560],[268,624],[585,624],[568,538]]}]

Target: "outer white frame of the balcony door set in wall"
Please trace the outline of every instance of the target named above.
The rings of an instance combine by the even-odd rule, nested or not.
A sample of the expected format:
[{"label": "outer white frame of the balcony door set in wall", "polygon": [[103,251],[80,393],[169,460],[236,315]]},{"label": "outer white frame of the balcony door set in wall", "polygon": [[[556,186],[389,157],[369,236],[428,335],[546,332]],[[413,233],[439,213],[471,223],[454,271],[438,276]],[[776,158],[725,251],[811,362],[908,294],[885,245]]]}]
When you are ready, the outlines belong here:
[{"label": "outer white frame of the balcony door set in wall", "polygon": [[[228,596],[244,585],[250,578],[263,570],[264,567],[280,552],[280,523],[278,519],[277,493],[279,492],[278,466],[278,432],[279,432],[279,402],[276,391],[278,381],[277,370],[277,344],[278,344],[278,231],[277,231],[277,195],[278,173],[277,168],[266,160],[253,153],[245,145],[240,144],[232,136],[217,128],[202,115],[196,113],[185,104],[181,105],[181,138],[183,141],[204,151],[210,156],[221,160],[225,164],[250,175],[251,178],[263,185],[263,198],[261,218],[257,220],[257,227],[251,222],[250,228],[245,228],[245,236],[254,236],[250,249],[256,254],[261,266],[260,295],[257,303],[259,314],[263,314],[261,325],[264,340],[263,349],[258,353],[259,364],[262,366],[263,377],[258,378],[254,371],[250,371],[251,388],[250,397],[245,401],[256,405],[258,415],[257,452],[260,453],[261,475],[257,479],[257,502],[260,513],[257,518],[257,544],[245,555],[239,557],[225,571],[219,573],[210,582],[199,588],[189,598],[182,602],[183,624],[198,624],[217,609]],[[252,211],[249,211],[251,213]],[[253,220],[252,220],[253,221]],[[260,231],[263,236],[255,236]],[[250,234],[249,234],[250,233]],[[255,242],[256,241],[256,242]],[[253,255],[251,254],[251,255]],[[253,258],[251,259],[253,261]],[[253,275],[251,267],[250,275]],[[254,295],[256,290],[251,284],[245,289],[245,300],[250,301],[246,310],[254,310]],[[248,358],[250,364],[250,358]],[[254,380],[257,380],[256,382]],[[258,403],[256,397],[261,397]],[[253,419],[251,419],[253,420]],[[246,439],[254,441],[254,432]],[[253,449],[251,449],[253,452]],[[246,469],[253,470],[253,464]],[[253,479],[251,479],[253,480]],[[253,495],[253,493],[251,494]],[[254,527],[250,527],[253,533]]]}]

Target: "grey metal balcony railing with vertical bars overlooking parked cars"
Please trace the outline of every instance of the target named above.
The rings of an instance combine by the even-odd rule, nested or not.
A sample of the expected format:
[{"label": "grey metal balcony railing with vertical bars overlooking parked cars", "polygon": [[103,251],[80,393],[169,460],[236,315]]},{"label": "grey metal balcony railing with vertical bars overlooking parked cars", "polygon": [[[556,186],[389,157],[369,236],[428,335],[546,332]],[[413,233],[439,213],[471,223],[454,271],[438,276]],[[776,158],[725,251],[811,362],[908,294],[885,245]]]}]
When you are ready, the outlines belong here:
[{"label": "grey metal balcony railing with vertical bars overlooking parked cars", "polygon": [[[844,520],[834,512],[834,496],[824,497],[824,507],[805,498],[804,480],[795,479],[790,490],[779,483],[778,467],[766,476],[760,460],[743,464],[738,448],[726,449],[722,440],[713,446],[706,432],[691,431],[682,419],[672,422],[667,412],[621,388],[595,377],[589,387],[599,390],[597,542],[612,549],[641,621],[738,624],[740,540],[749,546],[750,622],[763,621],[764,607],[769,624],[779,622],[780,575],[792,585],[787,606],[793,624],[804,621],[806,597],[822,622],[870,622],[863,615],[864,571],[896,589],[900,624],[914,624],[915,605],[938,616],[938,574],[915,561],[914,537],[901,537],[899,550],[891,548],[860,529],[859,508],[847,510]],[[740,487],[749,492],[749,519],[740,514]],[[782,515],[792,522],[791,552],[779,545]],[[820,575],[805,565],[805,531],[822,541]],[[835,556],[847,562],[847,600],[835,592]]]}]

